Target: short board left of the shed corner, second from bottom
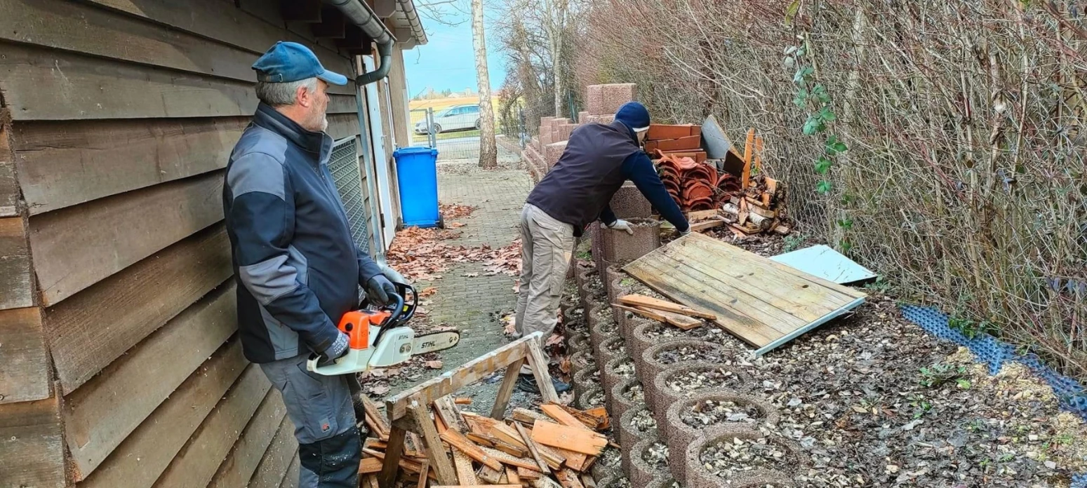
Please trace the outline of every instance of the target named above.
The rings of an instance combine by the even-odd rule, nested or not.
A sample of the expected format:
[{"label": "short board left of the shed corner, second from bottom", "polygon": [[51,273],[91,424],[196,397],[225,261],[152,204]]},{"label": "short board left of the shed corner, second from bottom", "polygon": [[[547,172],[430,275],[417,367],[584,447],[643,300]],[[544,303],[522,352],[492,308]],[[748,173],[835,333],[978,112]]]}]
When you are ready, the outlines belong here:
[{"label": "short board left of the shed corner, second from bottom", "polygon": [[50,396],[49,352],[41,310],[0,310],[0,409]]}]

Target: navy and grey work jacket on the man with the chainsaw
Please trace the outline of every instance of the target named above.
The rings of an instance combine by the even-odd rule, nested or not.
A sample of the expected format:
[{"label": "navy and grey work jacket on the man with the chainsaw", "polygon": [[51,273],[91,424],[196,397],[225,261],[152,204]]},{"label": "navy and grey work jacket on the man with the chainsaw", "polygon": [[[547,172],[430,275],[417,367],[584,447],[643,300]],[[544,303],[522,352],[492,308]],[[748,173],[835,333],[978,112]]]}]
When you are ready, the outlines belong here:
[{"label": "navy and grey work jacket on the man with the chainsaw", "polygon": [[333,139],[260,104],[230,153],[223,210],[238,329],[254,363],[324,352],[359,285],[380,273],[355,246],[328,173]]}]

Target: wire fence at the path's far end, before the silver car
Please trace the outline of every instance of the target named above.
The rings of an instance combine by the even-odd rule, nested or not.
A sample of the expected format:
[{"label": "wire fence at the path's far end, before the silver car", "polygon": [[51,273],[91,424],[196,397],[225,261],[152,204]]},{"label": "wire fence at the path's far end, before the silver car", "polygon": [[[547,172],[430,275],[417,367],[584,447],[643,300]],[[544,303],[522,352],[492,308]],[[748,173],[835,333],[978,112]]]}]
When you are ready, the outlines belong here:
[{"label": "wire fence at the path's far end, before the silver car", "polygon": [[[497,117],[496,117],[497,118]],[[439,161],[479,158],[479,105],[463,104],[445,109],[414,109],[410,112],[412,146],[438,150]],[[496,135],[524,147],[527,140],[524,116],[516,121],[496,121]],[[502,145],[499,145],[502,152]]]}]

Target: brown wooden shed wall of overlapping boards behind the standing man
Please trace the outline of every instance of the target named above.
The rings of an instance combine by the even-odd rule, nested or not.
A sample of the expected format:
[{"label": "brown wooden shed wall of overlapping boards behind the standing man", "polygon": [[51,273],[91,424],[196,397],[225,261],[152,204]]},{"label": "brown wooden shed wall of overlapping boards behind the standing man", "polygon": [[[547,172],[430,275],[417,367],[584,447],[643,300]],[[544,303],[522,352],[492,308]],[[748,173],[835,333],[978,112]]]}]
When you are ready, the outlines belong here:
[{"label": "brown wooden shed wall of overlapping boards behind the standing man", "polygon": [[[277,0],[0,12],[0,486],[295,486],[235,334],[223,168],[276,40],[353,63]],[[329,134],[358,136],[353,86],[330,91]]]}]

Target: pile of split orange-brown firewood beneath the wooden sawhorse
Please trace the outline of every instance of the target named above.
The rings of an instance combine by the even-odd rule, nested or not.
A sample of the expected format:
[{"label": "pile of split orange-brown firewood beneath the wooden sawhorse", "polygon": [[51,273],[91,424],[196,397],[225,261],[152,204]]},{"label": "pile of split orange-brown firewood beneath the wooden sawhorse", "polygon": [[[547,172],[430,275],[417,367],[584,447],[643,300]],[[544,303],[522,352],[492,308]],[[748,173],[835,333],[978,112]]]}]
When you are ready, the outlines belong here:
[{"label": "pile of split orange-brown firewood beneath the wooden sawhorse", "polygon": [[[430,465],[418,435],[407,433],[400,456],[398,486],[480,486],[509,488],[595,487],[589,474],[609,439],[600,434],[610,428],[603,408],[580,411],[558,403],[539,411],[514,409],[508,418],[461,411],[470,399],[442,397],[433,404],[432,421],[440,446],[452,459],[457,485],[442,485]],[[390,442],[390,426],[376,405],[366,404],[370,437],[363,443],[359,468],[364,488],[377,488],[378,473]]]}]

